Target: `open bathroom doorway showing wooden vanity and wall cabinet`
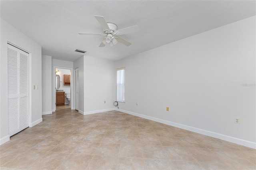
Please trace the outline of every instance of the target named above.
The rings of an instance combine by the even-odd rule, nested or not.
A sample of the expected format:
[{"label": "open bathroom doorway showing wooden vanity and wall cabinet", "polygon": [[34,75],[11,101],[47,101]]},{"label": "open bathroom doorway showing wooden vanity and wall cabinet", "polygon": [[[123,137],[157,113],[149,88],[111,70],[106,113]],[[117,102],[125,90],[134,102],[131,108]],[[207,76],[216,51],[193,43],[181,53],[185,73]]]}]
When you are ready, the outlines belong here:
[{"label": "open bathroom doorway showing wooden vanity and wall cabinet", "polygon": [[54,67],[54,109],[72,109],[72,69]]}]

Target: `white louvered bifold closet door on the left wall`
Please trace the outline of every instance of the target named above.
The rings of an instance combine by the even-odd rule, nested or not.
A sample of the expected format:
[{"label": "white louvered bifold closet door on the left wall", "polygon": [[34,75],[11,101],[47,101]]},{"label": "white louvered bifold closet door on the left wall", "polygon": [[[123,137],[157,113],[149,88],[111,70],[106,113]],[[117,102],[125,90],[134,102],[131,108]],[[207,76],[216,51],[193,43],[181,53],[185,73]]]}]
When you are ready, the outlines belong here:
[{"label": "white louvered bifold closet door on the left wall", "polygon": [[8,44],[8,134],[28,127],[29,54]]}]

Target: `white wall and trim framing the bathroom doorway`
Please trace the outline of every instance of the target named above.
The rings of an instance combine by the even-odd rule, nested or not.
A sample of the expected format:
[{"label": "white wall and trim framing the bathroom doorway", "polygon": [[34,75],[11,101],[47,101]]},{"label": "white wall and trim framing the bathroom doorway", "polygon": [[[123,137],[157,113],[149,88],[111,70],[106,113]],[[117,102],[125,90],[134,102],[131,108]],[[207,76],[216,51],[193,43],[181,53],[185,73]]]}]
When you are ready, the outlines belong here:
[{"label": "white wall and trim framing the bathroom doorway", "polygon": [[[59,59],[52,59],[52,111],[55,111],[55,101],[56,101],[56,90],[54,89],[54,81],[55,81],[55,67],[60,67],[60,68],[65,68],[65,69],[73,69],[73,62],[72,61],[64,61],[64,60],[59,60]],[[73,75],[71,74],[71,80],[72,81],[72,77]],[[72,83],[70,83],[70,85],[72,86]],[[71,87],[70,86],[70,87]],[[71,89],[72,91],[72,89]],[[72,94],[71,94],[72,96]],[[72,98],[72,97],[71,97]],[[74,109],[72,107],[72,101],[71,101],[71,109]]]}]

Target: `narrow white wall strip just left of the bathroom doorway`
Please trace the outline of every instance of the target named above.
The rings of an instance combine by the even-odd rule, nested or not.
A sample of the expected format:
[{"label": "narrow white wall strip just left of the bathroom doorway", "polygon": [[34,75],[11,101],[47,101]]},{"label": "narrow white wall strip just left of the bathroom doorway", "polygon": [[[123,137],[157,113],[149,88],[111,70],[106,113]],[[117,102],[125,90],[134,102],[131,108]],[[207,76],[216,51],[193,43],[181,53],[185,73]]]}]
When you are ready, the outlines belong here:
[{"label": "narrow white wall strip just left of the bathroom doorway", "polygon": [[52,114],[52,56],[42,55],[42,115]]}]

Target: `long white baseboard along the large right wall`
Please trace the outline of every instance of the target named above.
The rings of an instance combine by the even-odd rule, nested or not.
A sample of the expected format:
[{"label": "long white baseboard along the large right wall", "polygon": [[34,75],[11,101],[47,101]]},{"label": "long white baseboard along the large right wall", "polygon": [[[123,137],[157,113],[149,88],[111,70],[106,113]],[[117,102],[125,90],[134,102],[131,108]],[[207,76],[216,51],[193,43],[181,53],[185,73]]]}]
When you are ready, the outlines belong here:
[{"label": "long white baseboard along the large right wall", "polygon": [[130,111],[122,110],[122,109],[114,108],[114,110],[120,111],[120,112],[123,112],[123,113],[127,113],[129,115],[142,117],[142,118],[145,118],[145,119],[148,119],[148,120],[151,120],[151,121],[156,121],[156,122],[159,122],[159,123],[170,125],[170,126],[173,126],[173,127],[182,128],[182,129],[189,130],[189,131],[192,131],[192,132],[196,132],[196,133],[199,133],[199,134],[204,134],[206,136],[218,138],[218,139],[225,140],[225,141],[228,141],[228,142],[232,142],[232,143],[235,143],[235,144],[240,144],[242,146],[246,146],[246,147],[249,147],[249,148],[256,149],[256,142],[251,142],[251,141],[248,141],[248,140],[234,138],[232,136],[227,136],[227,135],[224,135],[224,134],[211,132],[211,131],[200,129],[200,128],[190,127],[190,126],[187,126],[187,125],[182,125],[182,124],[179,124],[179,123],[174,123],[174,122],[171,122],[171,121],[166,121],[166,120],[163,120],[163,119],[158,119],[158,118],[155,118],[155,117],[150,117],[150,116],[146,116],[146,115],[142,115],[142,114],[139,114],[139,113],[134,113],[134,112],[130,112]]}]

